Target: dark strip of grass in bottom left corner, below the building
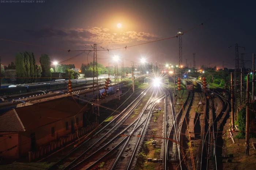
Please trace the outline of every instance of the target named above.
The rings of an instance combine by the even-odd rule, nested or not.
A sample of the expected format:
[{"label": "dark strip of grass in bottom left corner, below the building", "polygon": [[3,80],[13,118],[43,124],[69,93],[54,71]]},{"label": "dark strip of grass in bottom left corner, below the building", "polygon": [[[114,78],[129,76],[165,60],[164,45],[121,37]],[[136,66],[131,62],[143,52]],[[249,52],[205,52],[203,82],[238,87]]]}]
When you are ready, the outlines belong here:
[{"label": "dark strip of grass in bottom left corner, below the building", "polygon": [[13,165],[1,165],[1,170],[46,170],[52,166],[55,162],[31,162],[31,163],[19,163]]}]

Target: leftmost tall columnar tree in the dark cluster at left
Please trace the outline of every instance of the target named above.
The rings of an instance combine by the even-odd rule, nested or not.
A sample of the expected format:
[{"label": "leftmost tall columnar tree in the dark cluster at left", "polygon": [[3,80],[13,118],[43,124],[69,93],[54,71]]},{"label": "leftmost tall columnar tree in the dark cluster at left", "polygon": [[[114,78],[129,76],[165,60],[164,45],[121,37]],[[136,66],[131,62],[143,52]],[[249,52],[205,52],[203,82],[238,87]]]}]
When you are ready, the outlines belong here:
[{"label": "leftmost tall columnar tree in the dark cluster at left", "polygon": [[22,53],[17,52],[15,55],[15,65],[16,65],[16,76],[18,77],[17,83],[23,83],[24,79],[20,79],[20,77],[25,77],[25,63],[24,56]]}]

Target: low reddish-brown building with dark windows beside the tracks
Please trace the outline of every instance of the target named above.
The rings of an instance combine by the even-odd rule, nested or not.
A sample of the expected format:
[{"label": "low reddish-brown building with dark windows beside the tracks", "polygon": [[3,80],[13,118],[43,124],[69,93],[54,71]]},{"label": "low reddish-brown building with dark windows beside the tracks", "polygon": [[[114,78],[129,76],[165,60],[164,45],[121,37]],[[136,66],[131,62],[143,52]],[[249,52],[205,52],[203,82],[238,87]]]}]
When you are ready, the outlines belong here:
[{"label": "low reddish-brown building with dark windows beside the tracks", "polygon": [[0,157],[27,158],[61,137],[86,127],[89,108],[72,96],[12,109],[0,115]]}]

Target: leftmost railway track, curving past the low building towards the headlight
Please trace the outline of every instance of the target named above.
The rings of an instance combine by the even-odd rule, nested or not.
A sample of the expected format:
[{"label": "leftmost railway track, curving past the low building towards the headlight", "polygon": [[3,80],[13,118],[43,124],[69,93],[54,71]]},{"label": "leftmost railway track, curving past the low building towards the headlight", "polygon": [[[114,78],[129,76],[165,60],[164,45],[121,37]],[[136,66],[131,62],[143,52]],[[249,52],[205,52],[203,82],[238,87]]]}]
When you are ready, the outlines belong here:
[{"label": "leftmost railway track, curving past the low building towards the headlight", "polygon": [[118,134],[118,131],[120,132],[125,129],[125,127],[121,126],[122,123],[125,122],[133,110],[140,104],[148,90],[149,88],[144,90],[131,104],[118,114],[116,118],[94,134],[93,137],[88,138],[81,145],[68,153],[63,159],[49,167],[49,170],[70,169],[88,157],[89,154],[93,153],[100,146],[104,145],[104,142],[111,141],[112,137]]}]

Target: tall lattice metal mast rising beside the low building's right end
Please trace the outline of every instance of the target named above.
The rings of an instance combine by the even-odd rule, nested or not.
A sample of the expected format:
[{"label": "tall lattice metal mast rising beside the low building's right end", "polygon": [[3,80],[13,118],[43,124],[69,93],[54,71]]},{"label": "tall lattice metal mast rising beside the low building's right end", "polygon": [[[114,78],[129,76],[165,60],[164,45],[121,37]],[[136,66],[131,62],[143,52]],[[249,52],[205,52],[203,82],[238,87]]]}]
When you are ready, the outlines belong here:
[{"label": "tall lattice metal mast rising beside the low building's right end", "polygon": [[[96,94],[94,88],[96,86]],[[97,96],[97,99],[95,97]],[[95,99],[95,100],[94,100]],[[97,44],[93,44],[93,113],[99,116],[99,88],[98,88],[98,63],[97,63]]]}]

